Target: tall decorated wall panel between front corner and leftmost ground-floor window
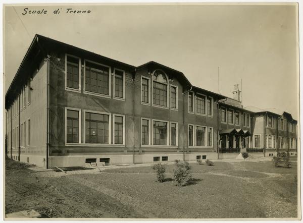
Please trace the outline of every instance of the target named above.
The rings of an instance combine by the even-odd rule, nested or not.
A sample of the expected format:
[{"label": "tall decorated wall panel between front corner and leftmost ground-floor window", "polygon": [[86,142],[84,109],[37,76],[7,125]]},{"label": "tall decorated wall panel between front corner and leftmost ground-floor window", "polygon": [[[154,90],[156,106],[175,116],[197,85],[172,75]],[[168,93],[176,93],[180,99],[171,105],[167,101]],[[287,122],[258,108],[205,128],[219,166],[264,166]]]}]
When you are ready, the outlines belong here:
[{"label": "tall decorated wall panel between front corner and leftmost ground-floor window", "polygon": [[64,107],[51,106],[49,110],[49,144],[64,145]]}]

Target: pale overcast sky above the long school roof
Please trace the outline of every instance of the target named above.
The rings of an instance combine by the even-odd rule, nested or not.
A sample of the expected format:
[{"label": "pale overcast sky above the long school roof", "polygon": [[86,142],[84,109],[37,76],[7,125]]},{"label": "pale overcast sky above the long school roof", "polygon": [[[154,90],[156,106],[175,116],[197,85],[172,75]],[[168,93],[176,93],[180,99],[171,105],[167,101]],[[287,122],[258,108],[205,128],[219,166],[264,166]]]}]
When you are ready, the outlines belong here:
[{"label": "pale overcast sky above the long school roof", "polygon": [[220,67],[221,94],[231,97],[242,79],[244,106],[298,118],[295,6],[53,5],[28,7],[47,14],[22,15],[26,7],[5,8],[5,89],[38,33],[134,66],[156,61],[214,92]]}]

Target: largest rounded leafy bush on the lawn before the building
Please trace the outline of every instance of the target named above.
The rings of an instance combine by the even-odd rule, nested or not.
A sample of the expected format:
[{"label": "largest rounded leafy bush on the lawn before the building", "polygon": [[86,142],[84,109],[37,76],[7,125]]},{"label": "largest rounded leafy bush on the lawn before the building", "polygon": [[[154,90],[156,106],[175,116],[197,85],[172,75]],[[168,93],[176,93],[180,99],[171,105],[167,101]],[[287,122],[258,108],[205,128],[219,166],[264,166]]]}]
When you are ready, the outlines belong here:
[{"label": "largest rounded leafy bush on the lawn before the building", "polygon": [[174,169],[174,181],[176,185],[181,187],[187,185],[191,179],[190,166],[188,162],[175,162],[176,168]]}]

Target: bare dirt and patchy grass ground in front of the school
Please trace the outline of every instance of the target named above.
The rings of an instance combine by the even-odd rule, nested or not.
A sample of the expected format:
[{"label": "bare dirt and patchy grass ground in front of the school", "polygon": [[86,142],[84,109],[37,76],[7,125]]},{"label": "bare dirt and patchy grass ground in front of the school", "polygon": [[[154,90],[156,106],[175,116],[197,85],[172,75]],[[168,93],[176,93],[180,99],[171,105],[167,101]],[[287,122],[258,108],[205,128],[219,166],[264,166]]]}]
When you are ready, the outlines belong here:
[{"label": "bare dirt and patchy grass ground in front of the school", "polygon": [[[14,163],[15,161],[13,161]],[[296,162],[191,163],[192,181],[174,184],[167,165],[164,183],[151,166],[67,173],[35,172],[23,164],[6,168],[6,213],[35,209],[42,217],[247,218],[297,217]]]}]

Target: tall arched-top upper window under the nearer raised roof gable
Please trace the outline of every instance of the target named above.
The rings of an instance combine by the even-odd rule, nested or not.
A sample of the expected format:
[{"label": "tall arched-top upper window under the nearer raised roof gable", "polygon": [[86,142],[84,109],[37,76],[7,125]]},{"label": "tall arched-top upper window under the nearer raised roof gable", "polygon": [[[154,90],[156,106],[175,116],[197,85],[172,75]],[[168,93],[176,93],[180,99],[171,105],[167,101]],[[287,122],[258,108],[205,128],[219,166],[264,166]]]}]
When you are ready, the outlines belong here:
[{"label": "tall arched-top upper window under the nearer raised roof gable", "polygon": [[167,107],[167,83],[166,75],[156,70],[153,74],[153,104]]}]

